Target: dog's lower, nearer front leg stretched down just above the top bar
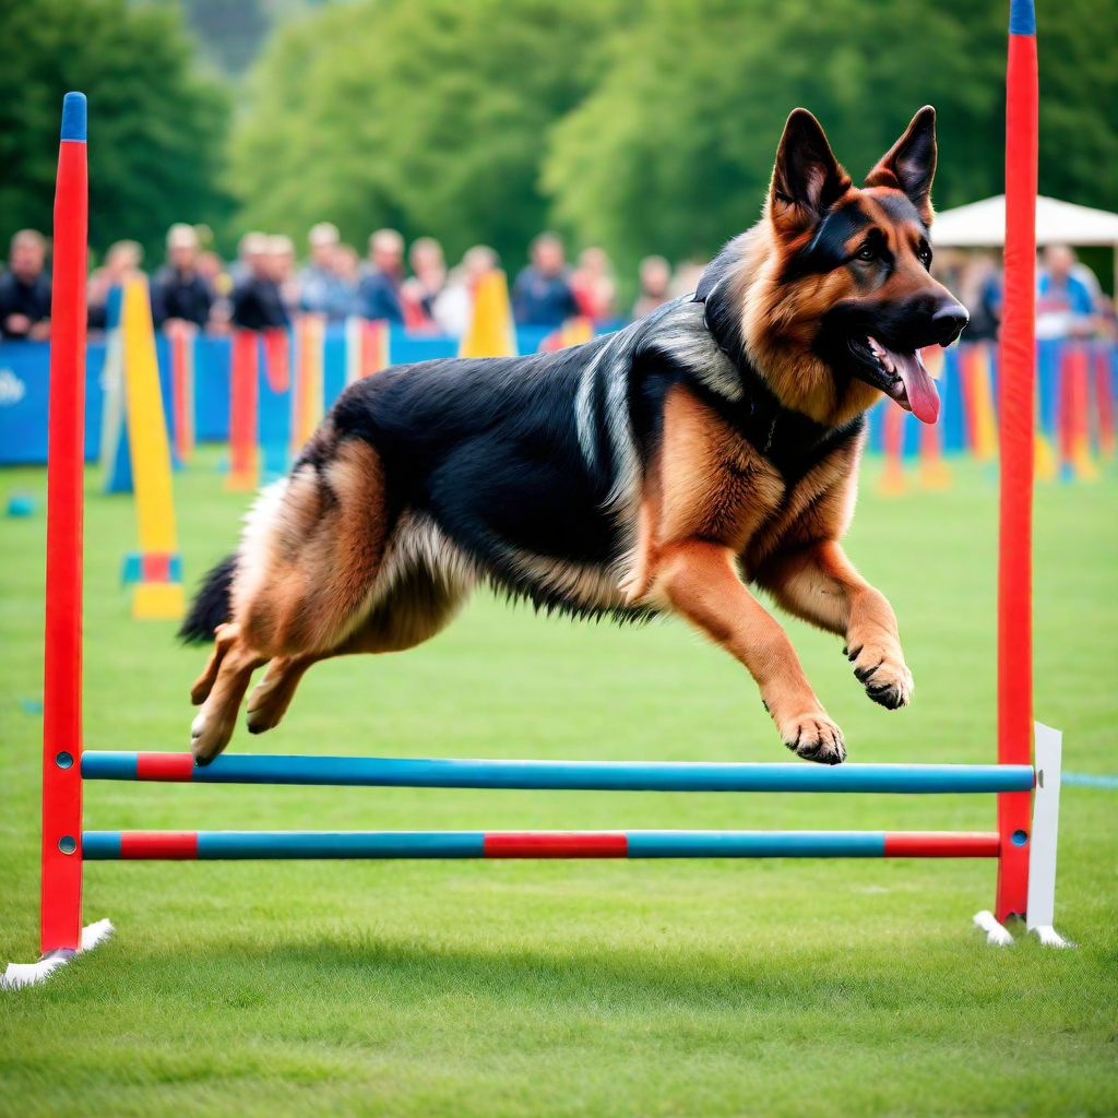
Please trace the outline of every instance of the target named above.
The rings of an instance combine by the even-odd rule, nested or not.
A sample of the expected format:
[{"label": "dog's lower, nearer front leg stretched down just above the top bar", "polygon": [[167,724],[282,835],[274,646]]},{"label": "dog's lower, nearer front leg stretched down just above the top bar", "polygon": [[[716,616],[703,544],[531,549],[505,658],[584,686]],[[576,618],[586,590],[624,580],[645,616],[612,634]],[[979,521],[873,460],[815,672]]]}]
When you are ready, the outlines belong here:
[{"label": "dog's lower, nearer front leg stretched down just above the top bar", "polygon": [[788,635],[738,578],[731,549],[702,540],[670,544],[656,582],[654,593],[746,665],[789,749],[826,765],[845,758],[842,731],[815,697]]}]

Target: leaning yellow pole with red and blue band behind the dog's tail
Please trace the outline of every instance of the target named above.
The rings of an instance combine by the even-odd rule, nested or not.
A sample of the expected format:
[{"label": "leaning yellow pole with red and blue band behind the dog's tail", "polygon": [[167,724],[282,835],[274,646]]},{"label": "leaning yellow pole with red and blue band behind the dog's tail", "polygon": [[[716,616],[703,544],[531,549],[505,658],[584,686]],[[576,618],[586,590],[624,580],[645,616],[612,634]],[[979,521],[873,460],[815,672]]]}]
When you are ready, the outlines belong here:
[{"label": "leaning yellow pole with red and blue band behind the dog's tail", "polygon": [[135,584],[132,616],[173,620],[186,612],[186,597],[174,531],[171,444],[159,388],[148,284],[142,278],[124,285],[121,337],[129,454],[140,536],[139,555],[125,560],[125,578]]}]

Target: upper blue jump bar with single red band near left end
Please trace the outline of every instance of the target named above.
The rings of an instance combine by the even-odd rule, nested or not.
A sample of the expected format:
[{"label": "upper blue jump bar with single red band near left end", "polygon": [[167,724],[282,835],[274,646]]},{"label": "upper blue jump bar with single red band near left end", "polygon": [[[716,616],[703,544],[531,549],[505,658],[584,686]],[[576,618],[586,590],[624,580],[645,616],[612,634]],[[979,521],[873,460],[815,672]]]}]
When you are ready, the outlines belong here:
[{"label": "upper blue jump bar with single red band near left end", "polygon": [[1030,765],[806,765],[689,761],[456,760],[221,754],[205,768],[189,754],[82,755],[86,780],[295,784],[392,788],[597,792],[1029,792]]}]

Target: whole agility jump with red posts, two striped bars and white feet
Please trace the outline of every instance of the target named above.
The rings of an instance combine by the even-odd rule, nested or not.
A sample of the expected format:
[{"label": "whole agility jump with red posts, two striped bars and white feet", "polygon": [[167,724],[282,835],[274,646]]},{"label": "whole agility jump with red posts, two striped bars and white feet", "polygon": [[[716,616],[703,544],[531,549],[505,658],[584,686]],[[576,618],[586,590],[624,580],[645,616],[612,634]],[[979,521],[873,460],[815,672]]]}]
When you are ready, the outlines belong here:
[{"label": "whole agility jump with red posts, two striped bars and white feet", "polygon": [[[1032,0],[1011,0],[1006,111],[1005,314],[999,380],[1001,508],[996,765],[676,764],[506,761],[221,755],[82,748],[82,518],[87,236],[86,101],[66,95],[55,193],[54,313],[47,508],[42,757],[41,950],[11,964],[0,985],[41,980],[112,932],[83,929],[87,861],[496,858],[988,858],[993,911],[975,917],[987,940],[1024,918],[1042,942],[1053,930],[1059,822],[1059,732],[1032,721],[1032,484],[1035,342],[1036,41]],[[1035,748],[1035,757],[1034,757]],[[991,832],[816,831],[83,831],[85,780],[301,784],[424,788],[739,793],[992,793]]]}]

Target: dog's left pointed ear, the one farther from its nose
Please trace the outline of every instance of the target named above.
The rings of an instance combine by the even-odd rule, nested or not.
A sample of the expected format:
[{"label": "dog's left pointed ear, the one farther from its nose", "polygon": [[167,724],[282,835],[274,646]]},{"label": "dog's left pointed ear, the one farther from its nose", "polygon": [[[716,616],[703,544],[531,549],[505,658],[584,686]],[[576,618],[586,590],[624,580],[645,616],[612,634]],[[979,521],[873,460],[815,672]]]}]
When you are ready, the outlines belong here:
[{"label": "dog's left pointed ear, the one farther from its nose", "polygon": [[789,231],[814,225],[850,186],[819,122],[806,108],[794,108],[776,150],[769,186],[774,224]]}]

